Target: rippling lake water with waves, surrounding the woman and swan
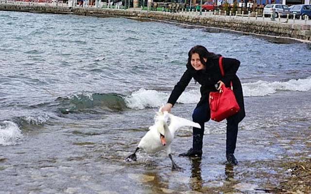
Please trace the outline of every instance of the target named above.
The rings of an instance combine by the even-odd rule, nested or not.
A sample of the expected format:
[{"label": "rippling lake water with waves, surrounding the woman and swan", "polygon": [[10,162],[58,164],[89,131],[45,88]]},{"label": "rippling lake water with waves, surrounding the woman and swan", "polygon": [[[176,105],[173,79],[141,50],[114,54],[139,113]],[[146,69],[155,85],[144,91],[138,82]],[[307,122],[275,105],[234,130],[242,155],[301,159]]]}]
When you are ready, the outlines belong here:
[{"label": "rippling lake water with waves, surrounding the woman and swan", "polygon": [[[311,157],[311,50],[253,36],[159,22],[0,12],[0,193],[259,192],[264,165]],[[179,80],[194,45],[241,61],[246,118],[237,167],[225,162],[225,122],[206,123],[202,159],[165,153],[127,163]],[[191,118],[191,81],[173,114]]]}]

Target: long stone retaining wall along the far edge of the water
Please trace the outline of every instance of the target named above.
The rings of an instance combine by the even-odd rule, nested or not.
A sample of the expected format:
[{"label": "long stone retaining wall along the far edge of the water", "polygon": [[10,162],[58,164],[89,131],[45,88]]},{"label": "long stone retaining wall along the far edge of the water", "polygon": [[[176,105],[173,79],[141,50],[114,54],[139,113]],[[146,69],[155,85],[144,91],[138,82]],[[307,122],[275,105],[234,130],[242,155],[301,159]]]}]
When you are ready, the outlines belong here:
[{"label": "long stone retaining wall along the far edge of the water", "polygon": [[[195,16],[173,14],[168,12],[146,12],[137,10],[116,10],[100,8],[80,8],[61,6],[0,4],[2,11],[21,11],[34,13],[76,14],[94,17],[125,17],[138,19],[155,19],[206,27],[209,31],[234,31],[255,35],[280,36],[289,42],[294,39],[311,43],[310,24],[289,24],[271,21],[248,20],[229,17]],[[269,18],[267,18],[268,20]],[[215,29],[216,28],[216,29]],[[271,37],[270,37],[271,38]],[[277,37],[274,37],[277,38]],[[288,42],[287,41],[287,42]],[[286,41],[285,41],[286,42]]]}]

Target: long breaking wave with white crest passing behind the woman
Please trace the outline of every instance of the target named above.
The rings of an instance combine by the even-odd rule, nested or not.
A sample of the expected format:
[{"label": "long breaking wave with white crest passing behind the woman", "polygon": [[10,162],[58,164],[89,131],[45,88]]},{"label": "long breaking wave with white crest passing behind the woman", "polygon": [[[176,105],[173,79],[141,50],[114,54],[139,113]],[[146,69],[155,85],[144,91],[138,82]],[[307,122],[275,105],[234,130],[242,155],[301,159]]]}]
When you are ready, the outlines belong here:
[{"label": "long breaking wave with white crest passing behind the woman", "polygon": [[[267,96],[281,90],[309,91],[311,90],[311,78],[291,79],[286,82],[267,82],[259,80],[242,84],[244,97]],[[144,109],[158,108],[166,104],[171,92],[157,91],[153,89],[140,88],[130,95],[117,93],[91,93],[87,91],[71,94],[67,97],[58,97],[57,106],[63,114],[70,112],[100,113],[103,110],[121,111],[127,108]],[[185,90],[177,100],[181,104],[195,104],[201,97],[198,89]],[[47,117],[24,118],[30,123],[42,123]]]}]

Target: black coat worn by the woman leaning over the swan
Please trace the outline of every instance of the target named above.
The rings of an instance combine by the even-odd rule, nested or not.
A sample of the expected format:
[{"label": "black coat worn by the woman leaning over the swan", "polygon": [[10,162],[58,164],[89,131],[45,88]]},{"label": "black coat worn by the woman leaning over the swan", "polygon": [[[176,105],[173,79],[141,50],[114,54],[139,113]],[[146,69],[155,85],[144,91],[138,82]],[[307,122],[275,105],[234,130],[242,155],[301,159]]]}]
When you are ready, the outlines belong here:
[{"label": "black coat worn by the woman leaning over the swan", "polygon": [[223,69],[225,72],[224,77],[222,77],[221,75],[218,61],[219,59],[207,60],[206,69],[199,71],[196,71],[190,64],[187,64],[187,70],[184,72],[179,82],[175,85],[168,100],[168,103],[171,103],[172,105],[176,103],[177,99],[188,86],[192,78],[194,78],[196,82],[201,84],[201,99],[197,106],[200,106],[202,103],[208,101],[209,92],[217,91],[217,89],[215,88],[215,84],[219,80],[223,81],[226,87],[230,87],[230,81],[232,81],[233,92],[241,108],[241,110],[232,117],[237,122],[241,122],[242,119],[245,117],[244,100],[242,85],[240,79],[236,75],[236,72],[240,67],[240,61],[237,59],[224,57],[222,60]]}]

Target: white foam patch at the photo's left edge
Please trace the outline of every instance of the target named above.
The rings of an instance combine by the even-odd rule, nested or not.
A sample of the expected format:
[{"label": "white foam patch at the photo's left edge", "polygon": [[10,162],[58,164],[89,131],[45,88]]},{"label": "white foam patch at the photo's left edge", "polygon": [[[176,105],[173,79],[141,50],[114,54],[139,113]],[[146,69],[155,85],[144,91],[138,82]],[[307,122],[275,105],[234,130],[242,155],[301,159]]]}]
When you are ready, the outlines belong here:
[{"label": "white foam patch at the photo's left edge", "polygon": [[10,121],[0,122],[0,145],[15,145],[22,137],[17,124]]}]

